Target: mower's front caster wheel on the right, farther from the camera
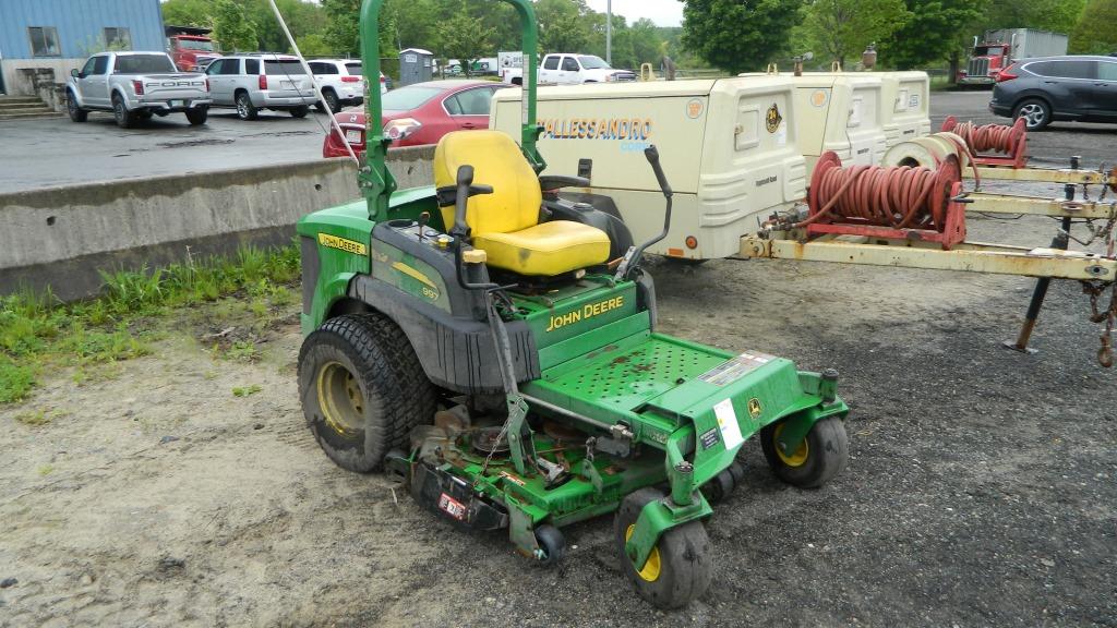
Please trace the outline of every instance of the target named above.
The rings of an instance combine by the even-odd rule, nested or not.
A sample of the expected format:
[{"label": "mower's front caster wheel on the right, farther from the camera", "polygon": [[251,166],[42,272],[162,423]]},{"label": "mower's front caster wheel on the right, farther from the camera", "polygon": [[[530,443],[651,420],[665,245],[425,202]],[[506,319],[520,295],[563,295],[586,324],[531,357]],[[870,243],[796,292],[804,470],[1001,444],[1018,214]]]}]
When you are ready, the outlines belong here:
[{"label": "mower's front caster wheel on the right, farther from the camera", "polygon": [[814,424],[794,451],[780,450],[784,424],[761,430],[761,449],[776,477],[799,488],[818,488],[838,476],[849,462],[849,437],[838,417]]}]

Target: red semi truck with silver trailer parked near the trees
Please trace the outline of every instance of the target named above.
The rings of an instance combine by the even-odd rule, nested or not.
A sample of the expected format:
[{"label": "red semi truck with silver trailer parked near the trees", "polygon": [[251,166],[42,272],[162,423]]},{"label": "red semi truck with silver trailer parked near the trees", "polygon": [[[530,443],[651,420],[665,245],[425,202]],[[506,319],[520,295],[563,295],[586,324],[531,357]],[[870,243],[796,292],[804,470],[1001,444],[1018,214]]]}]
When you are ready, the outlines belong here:
[{"label": "red semi truck with silver trailer parked near the trees", "polygon": [[1032,57],[1054,57],[1067,54],[1067,36],[1031,28],[986,30],[984,39],[974,37],[966,69],[958,70],[962,85],[993,85],[1001,70],[1012,61]]}]

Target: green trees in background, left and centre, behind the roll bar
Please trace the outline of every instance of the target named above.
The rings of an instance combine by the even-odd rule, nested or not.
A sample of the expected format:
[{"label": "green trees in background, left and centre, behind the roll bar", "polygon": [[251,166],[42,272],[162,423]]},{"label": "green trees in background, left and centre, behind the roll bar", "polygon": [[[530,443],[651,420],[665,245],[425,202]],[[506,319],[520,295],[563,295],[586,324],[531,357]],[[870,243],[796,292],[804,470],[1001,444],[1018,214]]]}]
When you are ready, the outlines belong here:
[{"label": "green trees in background, left and centre, behind the roll bar", "polygon": [[[277,0],[277,4],[304,55],[360,55],[361,0]],[[535,12],[541,51],[605,56],[605,15],[590,9],[585,0],[536,0]],[[227,51],[290,51],[267,0],[165,0],[163,21],[213,28],[213,38]],[[639,69],[651,63],[658,68],[663,55],[703,66],[681,49],[681,30],[612,16],[613,66]],[[519,39],[515,10],[494,0],[385,0],[380,13],[382,57],[424,48],[440,59],[474,60],[495,57],[498,50],[518,50]]]}]

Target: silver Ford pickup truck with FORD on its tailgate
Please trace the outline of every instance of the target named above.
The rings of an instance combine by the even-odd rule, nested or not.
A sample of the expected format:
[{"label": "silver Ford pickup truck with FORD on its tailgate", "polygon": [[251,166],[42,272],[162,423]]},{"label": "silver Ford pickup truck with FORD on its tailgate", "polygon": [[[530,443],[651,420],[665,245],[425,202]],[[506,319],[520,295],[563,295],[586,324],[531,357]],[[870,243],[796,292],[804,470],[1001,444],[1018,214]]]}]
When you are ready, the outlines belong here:
[{"label": "silver Ford pickup truck with FORD on its tailgate", "polygon": [[190,124],[206,124],[211,103],[206,75],[179,72],[166,53],[101,53],[73,70],[66,85],[70,120],[113,112],[122,129],[179,112]]}]

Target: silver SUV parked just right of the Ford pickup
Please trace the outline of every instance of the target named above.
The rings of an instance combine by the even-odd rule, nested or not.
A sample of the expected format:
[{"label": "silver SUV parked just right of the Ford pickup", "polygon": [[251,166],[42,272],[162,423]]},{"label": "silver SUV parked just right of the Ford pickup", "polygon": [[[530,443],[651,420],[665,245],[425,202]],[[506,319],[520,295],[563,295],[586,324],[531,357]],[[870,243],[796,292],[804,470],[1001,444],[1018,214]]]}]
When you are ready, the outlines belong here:
[{"label": "silver SUV parked just right of the Ford pickup", "polygon": [[314,104],[314,86],[298,57],[255,54],[217,59],[206,75],[214,107],[235,107],[240,120],[256,120],[260,110],[286,111],[305,117]]}]

